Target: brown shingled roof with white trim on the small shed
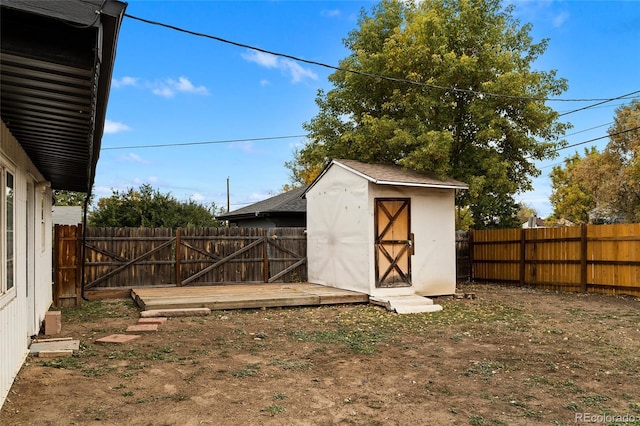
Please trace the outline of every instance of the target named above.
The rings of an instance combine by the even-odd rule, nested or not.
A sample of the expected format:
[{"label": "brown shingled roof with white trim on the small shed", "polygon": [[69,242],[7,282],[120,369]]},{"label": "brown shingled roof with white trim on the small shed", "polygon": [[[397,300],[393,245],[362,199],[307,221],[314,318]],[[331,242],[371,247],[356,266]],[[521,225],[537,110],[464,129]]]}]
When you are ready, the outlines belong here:
[{"label": "brown shingled roof with white trim on the small shed", "polygon": [[[355,160],[332,160],[309,185],[310,189],[329,170],[337,166],[349,170],[378,185],[417,186],[425,188],[468,189],[469,185],[454,179],[441,179],[431,172],[416,172],[390,164],[369,164]],[[308,191],[307,189],[307,191]]]}]

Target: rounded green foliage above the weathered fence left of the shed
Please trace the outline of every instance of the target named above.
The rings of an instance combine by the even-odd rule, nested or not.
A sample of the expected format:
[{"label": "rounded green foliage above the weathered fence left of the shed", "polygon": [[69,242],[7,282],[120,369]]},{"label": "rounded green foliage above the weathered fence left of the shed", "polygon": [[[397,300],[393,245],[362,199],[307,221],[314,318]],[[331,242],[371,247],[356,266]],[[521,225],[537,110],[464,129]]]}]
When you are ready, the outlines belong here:
[{"label": "rounded green foliage above the weathered fence left of the shed", "polygon": [[162,194],[151,185],[125,192],[113,190],[108,198],[100,198],[89,213],[90,226],[180,228],[190,226],[222,226],[215,218],[214,203],[207,207],[193,200],[180,202],[171,194]]}]

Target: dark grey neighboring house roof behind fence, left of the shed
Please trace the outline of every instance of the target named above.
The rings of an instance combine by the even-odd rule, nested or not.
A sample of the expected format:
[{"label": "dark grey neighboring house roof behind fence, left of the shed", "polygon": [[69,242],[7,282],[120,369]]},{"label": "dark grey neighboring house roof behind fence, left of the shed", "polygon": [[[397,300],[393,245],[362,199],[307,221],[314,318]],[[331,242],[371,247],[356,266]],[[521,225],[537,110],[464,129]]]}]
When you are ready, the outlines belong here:
[{"label": "dark grey neighboring house roof behind fence, left of the shed", "polygon": [[260,216],[283,216],[305,214],[307,211],[307,200],[302,198],[306,186],[267,198],[255,204],[241,209],[216,216],[221,220],[247,219]]}]

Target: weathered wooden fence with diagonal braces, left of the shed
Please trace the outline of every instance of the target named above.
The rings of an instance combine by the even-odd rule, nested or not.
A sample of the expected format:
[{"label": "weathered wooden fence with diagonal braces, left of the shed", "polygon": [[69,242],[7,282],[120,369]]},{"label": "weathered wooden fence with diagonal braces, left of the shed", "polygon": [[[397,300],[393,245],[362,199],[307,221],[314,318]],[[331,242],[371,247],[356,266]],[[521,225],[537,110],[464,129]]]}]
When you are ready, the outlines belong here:
[{"label": "weathered wooden fence with diagonal braces, left of the shed", "polygon": [[106,297],[133,287],[307,279],[304,228],[87,227],[82,233],[80,225],[55,227],[56,306],[79,304],[82,291]]}]

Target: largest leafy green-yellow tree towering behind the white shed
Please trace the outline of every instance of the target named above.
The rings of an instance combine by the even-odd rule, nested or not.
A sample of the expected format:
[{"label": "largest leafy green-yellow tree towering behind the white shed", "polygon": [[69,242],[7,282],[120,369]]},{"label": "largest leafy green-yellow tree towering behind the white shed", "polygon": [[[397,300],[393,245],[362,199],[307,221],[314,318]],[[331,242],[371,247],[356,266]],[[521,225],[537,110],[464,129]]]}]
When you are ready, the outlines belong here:
[{"label": "largest leafy green-yellow tree towering behind the white shed", "polygon": [[304,124],[307,144],[287,163],[294,181],[332,158],[431,170],[470,185],[457,203],[474,227],[517,226],[514,195],[531,189],[534,161],[553,157],[567,128],[544,100],[566,81],[532,69],[547,40],[530,31],[499,0],[385,0],[363,11],[334,88],[318,92]]}]

